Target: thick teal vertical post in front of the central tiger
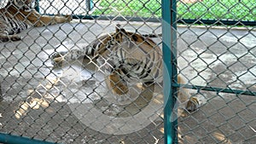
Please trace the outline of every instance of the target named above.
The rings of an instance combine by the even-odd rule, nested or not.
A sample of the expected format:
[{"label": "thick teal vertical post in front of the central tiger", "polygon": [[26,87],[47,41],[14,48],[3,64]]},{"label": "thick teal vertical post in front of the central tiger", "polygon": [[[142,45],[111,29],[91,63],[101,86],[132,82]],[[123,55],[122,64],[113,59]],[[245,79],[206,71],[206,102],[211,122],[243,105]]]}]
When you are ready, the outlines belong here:
[{"label": "thick teal vertical post in front of the central tiger", "polygon": [[[177,118],[173,112],[175,106],[176,87],[172,82],[177,82],[177,24],[176,0],[162,0],[162,33],[163,33],[163,87],[164,87],[164,129],[165,143],[177,143]],[[171,88],[171,89],[170,89]]]}]

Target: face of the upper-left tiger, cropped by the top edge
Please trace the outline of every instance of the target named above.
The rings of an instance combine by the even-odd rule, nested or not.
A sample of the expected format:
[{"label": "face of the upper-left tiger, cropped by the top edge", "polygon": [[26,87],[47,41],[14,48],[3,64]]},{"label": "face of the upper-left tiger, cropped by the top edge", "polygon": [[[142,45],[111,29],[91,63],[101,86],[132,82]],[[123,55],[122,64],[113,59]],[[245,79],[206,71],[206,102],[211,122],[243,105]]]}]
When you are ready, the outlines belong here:
[{"label": "face of the upper-left tiger, cropped by the top edge", "polygon": [[20,10],[31,12],[35,8],[35,0],[14,0],[15,6]]}]

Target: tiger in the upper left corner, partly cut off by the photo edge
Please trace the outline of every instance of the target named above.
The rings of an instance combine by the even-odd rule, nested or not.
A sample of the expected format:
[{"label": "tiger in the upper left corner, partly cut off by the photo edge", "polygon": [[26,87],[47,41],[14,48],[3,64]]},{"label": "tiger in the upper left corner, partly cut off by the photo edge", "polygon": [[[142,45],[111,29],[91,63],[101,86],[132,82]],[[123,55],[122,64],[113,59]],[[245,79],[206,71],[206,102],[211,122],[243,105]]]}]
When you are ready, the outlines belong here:
[{"label": "tiger in the upper left corner, partly cut off by the photo edge", "polygon": [[34,8],[35,0],[9,0],[7,5],[0,9],[0,40],[19,41],[22,37],[17,33],[29,27],[50,26],[72,20],[71,15],[42,15]]}]

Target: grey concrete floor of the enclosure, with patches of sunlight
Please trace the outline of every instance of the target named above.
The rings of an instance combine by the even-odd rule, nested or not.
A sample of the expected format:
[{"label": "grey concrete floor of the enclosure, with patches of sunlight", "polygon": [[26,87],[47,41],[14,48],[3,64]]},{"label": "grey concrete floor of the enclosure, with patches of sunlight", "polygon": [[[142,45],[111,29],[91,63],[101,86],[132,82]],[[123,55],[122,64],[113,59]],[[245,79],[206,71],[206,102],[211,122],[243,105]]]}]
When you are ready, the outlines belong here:
[{"label": "grey concrete floor of the enclosure, with patches of sunlight", "polygon": [[[54,51],[81,49],[113,32],[117,23],[125,25],[74,20],[22,32],[20,42],[1,43],[1,132],[60,143],[163,143],[161,86],[131,84],[138,96],[120,103],[94,63],[78,60],[54,68],[49,59]],[[159,23],[130,24],[125,29],[131,32],[161,30]],[[256,91],[255,31],[180,26],[177,32],[179,71],[189,84]],[[178,118],[180,143],[256,142],[255,96],[191,94],[202,107]]]}]

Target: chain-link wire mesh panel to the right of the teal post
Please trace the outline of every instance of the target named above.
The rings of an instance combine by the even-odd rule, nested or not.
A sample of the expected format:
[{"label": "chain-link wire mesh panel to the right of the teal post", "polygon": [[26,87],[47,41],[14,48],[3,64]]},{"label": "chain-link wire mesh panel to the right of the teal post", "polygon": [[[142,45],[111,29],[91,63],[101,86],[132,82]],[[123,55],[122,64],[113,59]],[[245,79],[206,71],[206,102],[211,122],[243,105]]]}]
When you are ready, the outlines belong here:
[{"label": "chain-link wire mesh panel to the right of the teal post", "polygon": [[[241,20],[253,20],[248,18],[253,4],[202,1],[183,3],[182,7],[188,11],[177,10],[177,21],[189,15],[201,25],[177,28],[179,73],[193,85],[191,94],[200,98],[202,107],[179,117],[179,142],[254,143],[255,26],[238,27]],[[201,19],[215,19],[220,26],[204,24]],[[238,21],[227,26],[221,21],[224,19]]]}]

